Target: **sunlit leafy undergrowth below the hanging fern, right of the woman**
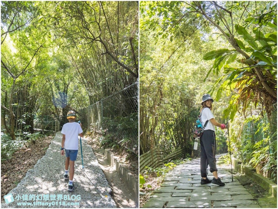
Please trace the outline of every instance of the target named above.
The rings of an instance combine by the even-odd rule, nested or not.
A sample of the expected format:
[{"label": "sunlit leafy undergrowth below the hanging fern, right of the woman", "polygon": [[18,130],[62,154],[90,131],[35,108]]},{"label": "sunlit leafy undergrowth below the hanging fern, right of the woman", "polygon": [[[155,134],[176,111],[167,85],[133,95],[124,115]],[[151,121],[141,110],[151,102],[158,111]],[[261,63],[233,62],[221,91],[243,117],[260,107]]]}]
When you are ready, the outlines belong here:
[{"label": "sunlit leafy undergrowth below the hanging fern, right of the woman", "polygon": [[238,117],[233,122],[234,156],[244,164],[260,170],[264,177],[277,183],[277,109],[267,117]]}]

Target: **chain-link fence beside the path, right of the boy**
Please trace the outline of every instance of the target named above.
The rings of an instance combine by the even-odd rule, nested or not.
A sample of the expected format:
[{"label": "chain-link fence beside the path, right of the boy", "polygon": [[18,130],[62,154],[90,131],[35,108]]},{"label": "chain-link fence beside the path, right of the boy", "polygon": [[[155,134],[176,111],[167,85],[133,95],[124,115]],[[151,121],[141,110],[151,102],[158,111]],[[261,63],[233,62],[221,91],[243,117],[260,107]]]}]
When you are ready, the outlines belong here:
[{"label": "chain-link fence beside the path, right of the boy", "polygon": [[137,81],[80,110],[82,126],[102,131],[106,137],[138,154],[138,104]]}]

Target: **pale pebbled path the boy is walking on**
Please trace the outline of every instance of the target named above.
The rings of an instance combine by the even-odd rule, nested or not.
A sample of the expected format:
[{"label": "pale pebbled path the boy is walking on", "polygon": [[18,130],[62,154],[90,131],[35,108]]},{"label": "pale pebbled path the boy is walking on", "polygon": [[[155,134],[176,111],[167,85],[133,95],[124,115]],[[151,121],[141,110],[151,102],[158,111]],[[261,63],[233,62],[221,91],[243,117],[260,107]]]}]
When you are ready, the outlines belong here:
[{"label": "pale pebbled path the boy is walking on", "polygon": [[[68,180],[63,178],[65,156],[61,156],[62,134],[57,132],[46,151],[34,168],[12,189],[14,202],[1,204],[1,207],[116,207],[110,196],[111,188],[92,151],[91,146],[82,139],[84,169],[82,169],[80,143],[74,166],[74,185],[72,192],[68,189]],[[34,150],[35,152],[36,150]],[[9,198],[8,200],[11,200]],[[21,204],[21,205],[20,205]],[[25,205],[24,205],[25,204]]]}]

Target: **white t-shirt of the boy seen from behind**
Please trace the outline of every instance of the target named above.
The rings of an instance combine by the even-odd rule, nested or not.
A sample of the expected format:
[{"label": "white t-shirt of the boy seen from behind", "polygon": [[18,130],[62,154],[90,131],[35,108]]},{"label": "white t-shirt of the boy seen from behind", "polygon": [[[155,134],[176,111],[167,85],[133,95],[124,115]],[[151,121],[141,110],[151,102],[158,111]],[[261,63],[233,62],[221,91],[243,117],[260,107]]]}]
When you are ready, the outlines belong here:
[{"label": "white t-shirt of the boy seen from behind", "polygon": [[65,134],[64,148],[66,150],[78,150],[78,134],[83,132],[81,126],[77,122],[68,122],[63,125],[61,133]]}]

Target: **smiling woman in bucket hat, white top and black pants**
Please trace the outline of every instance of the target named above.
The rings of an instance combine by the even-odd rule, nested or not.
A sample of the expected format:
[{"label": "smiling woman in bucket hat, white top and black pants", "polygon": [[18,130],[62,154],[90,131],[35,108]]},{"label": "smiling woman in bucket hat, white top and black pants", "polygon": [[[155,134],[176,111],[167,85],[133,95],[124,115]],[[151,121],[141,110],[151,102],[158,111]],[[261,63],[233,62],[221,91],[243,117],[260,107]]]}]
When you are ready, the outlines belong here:
[{"label": "smiling woman in bucket hat, white top and black pants", "polygon": [[[221,129],[228,128],[224,124],[217,122],[211,112],[213,99],[209,94],[204,94],[202,97],[202,107],[200,110],[201,114],[201,122],[202,125],[207,122],[203,135],[200,137],[200,145],[201,145],[201,159],[200,159],[200,168],[201,168],[201,184],[213,183],[220,186],[224,186],[220,178],[217,176],[217,168],[216,168],[216,159],[215,159],[215,151],[216,151],[216,141],[215,141],[215,126],[220,127]],[[209,164],[209,170],[213,173],[213,180],[209,180],[207,178],[207,162]]]}]

